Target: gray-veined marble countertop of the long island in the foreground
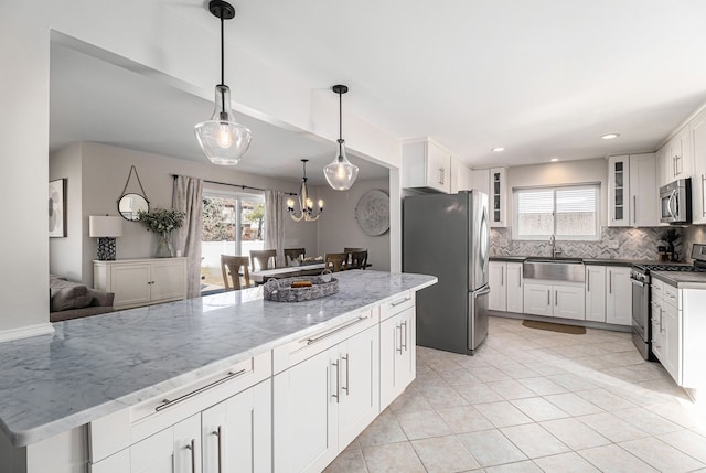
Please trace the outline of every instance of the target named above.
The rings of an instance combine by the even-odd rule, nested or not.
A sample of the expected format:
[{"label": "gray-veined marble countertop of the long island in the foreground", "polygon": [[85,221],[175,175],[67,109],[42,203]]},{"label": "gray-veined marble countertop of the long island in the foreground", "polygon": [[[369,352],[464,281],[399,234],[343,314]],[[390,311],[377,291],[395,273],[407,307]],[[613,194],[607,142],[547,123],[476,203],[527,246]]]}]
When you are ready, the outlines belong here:
[{"label": "gray-veined marble countertop of the long island in the foreground", "polygon": [[0,429],[15,447],[35,443],[437,282],[372,270],[335,278],[338,293],[309,302],[265,301],[259,287],[58,322],[53,335],[0,343]]}]

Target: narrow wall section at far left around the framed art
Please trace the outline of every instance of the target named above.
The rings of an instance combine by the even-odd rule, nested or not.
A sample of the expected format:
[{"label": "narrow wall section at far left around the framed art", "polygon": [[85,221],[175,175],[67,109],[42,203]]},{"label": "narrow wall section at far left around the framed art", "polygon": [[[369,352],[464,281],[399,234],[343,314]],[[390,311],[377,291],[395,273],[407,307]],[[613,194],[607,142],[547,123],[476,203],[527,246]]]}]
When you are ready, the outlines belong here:
[{"label": "narrow wall section at far left around the framed art", "polygon": [[[79,281],[84,218],[82,214],[82,150],[81,143],[72,143],[50,157],[49,179],[66,179],[66,237],[50,238],[50,272]],[[86,230],[87,233],[87,230]]]}]

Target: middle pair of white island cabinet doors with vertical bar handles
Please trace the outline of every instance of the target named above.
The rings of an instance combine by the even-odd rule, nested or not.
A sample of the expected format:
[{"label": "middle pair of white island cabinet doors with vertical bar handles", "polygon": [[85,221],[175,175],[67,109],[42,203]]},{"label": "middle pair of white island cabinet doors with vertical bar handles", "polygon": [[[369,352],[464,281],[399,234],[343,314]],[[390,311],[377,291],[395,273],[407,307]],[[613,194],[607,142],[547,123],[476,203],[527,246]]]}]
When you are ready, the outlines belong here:
[{"label": "middle pair of white island cabinet doors with vertical bar handles", "polygon": [[375,419],[378,347],[375,323],[275,375],[274,471],[322,471]]}]

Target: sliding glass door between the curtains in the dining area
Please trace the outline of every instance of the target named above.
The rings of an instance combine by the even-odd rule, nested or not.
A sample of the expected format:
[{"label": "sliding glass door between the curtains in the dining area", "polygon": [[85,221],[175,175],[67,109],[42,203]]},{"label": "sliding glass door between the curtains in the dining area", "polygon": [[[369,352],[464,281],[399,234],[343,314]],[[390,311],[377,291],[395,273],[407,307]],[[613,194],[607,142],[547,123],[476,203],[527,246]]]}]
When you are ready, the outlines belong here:
[{"label": "sliding glass door between the curtains in the dining area", "polygon": [[[236,230],[237,229],[237,230]],[[223,290],[221,255],[249,256],[265,248],[265,197],[204,191],[201,293]]]}]

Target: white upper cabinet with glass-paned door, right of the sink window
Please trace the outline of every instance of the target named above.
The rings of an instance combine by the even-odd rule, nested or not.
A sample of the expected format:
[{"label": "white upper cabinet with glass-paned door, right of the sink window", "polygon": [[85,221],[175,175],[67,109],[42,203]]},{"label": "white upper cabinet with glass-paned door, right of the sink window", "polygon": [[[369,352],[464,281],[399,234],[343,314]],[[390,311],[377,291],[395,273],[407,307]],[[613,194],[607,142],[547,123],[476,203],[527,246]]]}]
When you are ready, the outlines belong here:
[{"label": "white upper cabinet with glass-paned door, right of the sink window", "polygon": [[608,158],[608,226],[660,225],[656,182],[654,153]]}]

